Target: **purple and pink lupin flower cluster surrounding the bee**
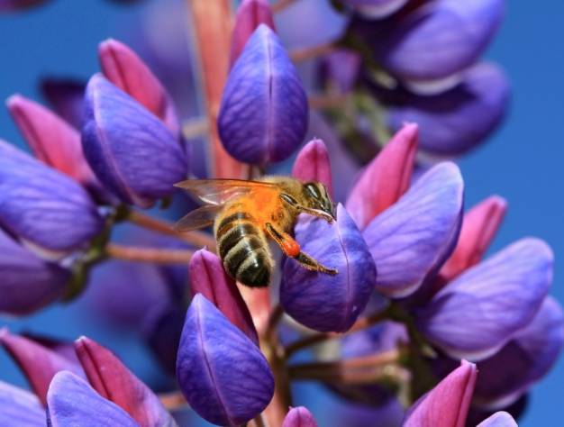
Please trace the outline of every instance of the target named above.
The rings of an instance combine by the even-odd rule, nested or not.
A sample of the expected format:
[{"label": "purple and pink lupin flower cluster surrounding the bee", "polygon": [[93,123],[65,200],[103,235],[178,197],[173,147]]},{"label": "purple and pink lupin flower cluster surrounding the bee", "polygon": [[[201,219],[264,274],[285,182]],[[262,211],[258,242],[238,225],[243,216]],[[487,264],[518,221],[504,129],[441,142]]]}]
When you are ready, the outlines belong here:
[{"label": "purple and pink lupin flower cluster surrounding the bee", "polygon": [[[315,426],[305,407],[291,406],[291,383],[301,380],[375,417],[392,404],[405,426],[516,425],[509,412],[564,343],[564,313],[548,295],[550,247],[523,238],[483,259],[505,200],[492,195],[465,212],[455,163],[416,164],[420,148],[468,150],[503,115],[505,78],[476,64],[503,2],[337,3],[348,29],[317,64],[325,119],[350,141],[361,116],[385,105],[378,123],[394,133],[355,168],[350,188],[340,176],[345,154],[333,155],[342,147],[314,138],[300,149],[309,109],[323,102],[308,95],[300,55],[285,49],[268,3],[243,0],[227,43],[231,16],[190,2],[208,102],[207,177],[260,177],[296,154],[291,175],[323,184],[338,203],[331,222],[302,213],[292,237],[336,274],[288,256],[272,286],[241,286],[211,234],[176,232],[141,212],[194,208],[174,185],[193,177],[201,153],[193,121],[181,121],[166,87],[122,42],[100,44],[101,72],[86,85],[44,87],[57,113],[8,99],[33,157],[0,141],[0,312],[71,301],[88,284],[106,320],[141,332],[177,389],[155,394],[85,337],[4,329],[0,344],[33,393],[0,382],[2,425],[172,427],[184,425],[187,404],[217,425]],[[335,90],[346,95],[336,97],[341,113]],[[369,136],[382,138],[374,124]],[[296,357],[302,350],[309,359]]]}]

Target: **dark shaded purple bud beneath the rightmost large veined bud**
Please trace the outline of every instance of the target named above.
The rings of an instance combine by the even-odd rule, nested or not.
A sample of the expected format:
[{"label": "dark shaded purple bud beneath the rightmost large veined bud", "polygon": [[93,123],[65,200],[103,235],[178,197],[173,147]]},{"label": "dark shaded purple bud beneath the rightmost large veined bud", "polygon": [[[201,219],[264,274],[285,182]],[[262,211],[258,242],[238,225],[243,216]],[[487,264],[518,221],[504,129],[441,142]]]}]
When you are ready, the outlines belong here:
[{"label": "dark shaded purple bud beneath the rightmost large veined bud", "polygon": [[554,365],[564,343],[564,313],[548,296],[532,322],[502,350],[478,363],[475,403],[488,409],[513,404]]}]

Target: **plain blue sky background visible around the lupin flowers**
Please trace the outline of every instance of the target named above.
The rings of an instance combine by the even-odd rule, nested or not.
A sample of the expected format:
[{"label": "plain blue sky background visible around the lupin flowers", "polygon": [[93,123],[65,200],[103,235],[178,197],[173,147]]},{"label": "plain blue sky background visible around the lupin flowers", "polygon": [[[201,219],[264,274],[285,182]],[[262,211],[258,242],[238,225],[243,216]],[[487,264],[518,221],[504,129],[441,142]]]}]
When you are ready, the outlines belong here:
[{"label": "plain blue sky background visible around the lupin flowers", "polygon": [[[37,82],[44,75],[86,79],[98,69],[99,41],[110,36],[131,41],[132,28],[143,12],[154,12],[156,6],[171,3],[175,1],[154,0],[125,7],[102,0],[59,0],[30,13],[0,15],[0,99],[16,92],[41,99]],[[509,202],[508,215],[492,250],[526,235],[550,243],[556,254],[552,295],[560,303],[564,302],[563,14],[564,4],[557,0],[542,2],[541,8],[532,7],[529,2],[508,5],[505,21],[487,51],[487,58],[501,63],[510,77],[511,111],[490,141],[459,160],[468,206],[492,194],[503,195]],[[186,81],[189,78],[186,75]],[[0,137],[22,143],[5,109],[0,109]],[[84,304],[79,301],[51,307],[22,320],[0,320],[0,325],[7,324],[14,331],[26,329],[68,339],[86,334],[121,349],[118,354],[144,379],[163,379],[150,368],[150,355],[133,335],[100,325],[84,310]],[[68,316],[73,316],[72,322],[68,322]],[[559,422],[563,378],[564,358],[560,358],[550,375],[534,387],[521,425]],[[24,384],[4,353],[0,354],[0,379]]]}]

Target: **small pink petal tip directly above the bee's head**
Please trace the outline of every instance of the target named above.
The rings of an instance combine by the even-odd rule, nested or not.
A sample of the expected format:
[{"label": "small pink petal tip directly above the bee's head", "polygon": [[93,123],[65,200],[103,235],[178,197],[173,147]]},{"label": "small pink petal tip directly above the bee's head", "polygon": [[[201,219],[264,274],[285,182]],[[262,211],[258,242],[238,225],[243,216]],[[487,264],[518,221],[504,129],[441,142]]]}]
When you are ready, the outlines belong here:
[{"label": "small pink petal tip directly above the bee's head", "polygon": [[332,175],[329,152],[322,140],[312,140],[297,153],[292,176],[303,182],[317,181],[327,187],[332,195]]}]

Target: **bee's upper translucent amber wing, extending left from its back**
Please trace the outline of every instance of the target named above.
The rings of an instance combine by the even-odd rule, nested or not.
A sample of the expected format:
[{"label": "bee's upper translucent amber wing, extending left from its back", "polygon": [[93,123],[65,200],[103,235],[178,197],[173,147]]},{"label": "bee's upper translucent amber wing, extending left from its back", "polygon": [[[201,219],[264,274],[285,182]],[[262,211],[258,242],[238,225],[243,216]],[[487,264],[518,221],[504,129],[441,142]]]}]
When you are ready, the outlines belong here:
[{"label": "bee's upper translucent amber wing, extending left from its back", "polygon": [[257,188],[276,188],[275,184],[243,179],[188,179],[175,184],[196,196],[205,204],[221,205],[239,195],[245,195]]}]

